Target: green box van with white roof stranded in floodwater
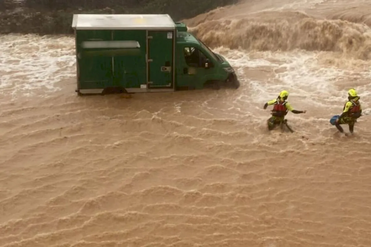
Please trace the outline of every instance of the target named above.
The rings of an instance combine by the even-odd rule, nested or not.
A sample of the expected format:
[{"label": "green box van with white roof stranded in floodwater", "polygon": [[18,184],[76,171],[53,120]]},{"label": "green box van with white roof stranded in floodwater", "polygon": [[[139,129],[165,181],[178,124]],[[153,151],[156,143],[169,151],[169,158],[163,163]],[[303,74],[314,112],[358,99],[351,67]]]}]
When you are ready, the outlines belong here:
[{"label": "green box van with white roof stranded in floodwater", "polygon": [[78,95],[240,86],[228,61],[168,14],[74,14]]}]

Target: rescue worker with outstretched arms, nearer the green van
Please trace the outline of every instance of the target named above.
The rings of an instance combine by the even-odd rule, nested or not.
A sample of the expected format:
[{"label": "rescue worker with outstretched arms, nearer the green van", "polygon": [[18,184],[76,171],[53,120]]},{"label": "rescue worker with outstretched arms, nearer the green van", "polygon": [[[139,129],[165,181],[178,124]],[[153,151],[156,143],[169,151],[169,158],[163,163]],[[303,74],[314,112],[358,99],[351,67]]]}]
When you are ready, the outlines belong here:
[{"label": "rescue worker with outstretched arms, nearer the green van", "polygon": [[264,105],[264,109],[267,109],[268,106],[273,105],[272,110],[272,117],[268,119],[268,129],[273,130],[277,125],[286,123],[287,120],[285,120],[285,116],[288,113],[288,111],[291,111],[292,113],[299,114],[299,113],[306,113],[306,111],[298,111],[294,110],[292,106],[286,101],[289,97],[289,92],[286,90],[283,90],[280,92],[277,99],[270,100]]}]

